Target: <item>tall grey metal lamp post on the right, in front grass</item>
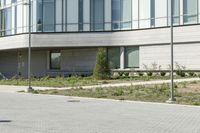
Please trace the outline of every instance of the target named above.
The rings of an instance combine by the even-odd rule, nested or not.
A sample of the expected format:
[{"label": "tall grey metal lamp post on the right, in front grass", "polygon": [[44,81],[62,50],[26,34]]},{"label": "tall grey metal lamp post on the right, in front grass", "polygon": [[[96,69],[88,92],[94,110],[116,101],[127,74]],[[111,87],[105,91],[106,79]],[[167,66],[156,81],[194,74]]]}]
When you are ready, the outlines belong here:
[{"label": "tall grey metal lamp post on the right, in front grass", "polygon": [[174,7],[173,7],[173,0],[171,0],[171,15],[170,15],[170,19],[171,19],[171,25],[170,25],[170,34],[171,34],[171,90],[170,90],[170,98],[167,101],[168,103],[174,103],[176,101],[175,97],[174,97],[174,26],[173,26],[173,12],[174,12]]}]

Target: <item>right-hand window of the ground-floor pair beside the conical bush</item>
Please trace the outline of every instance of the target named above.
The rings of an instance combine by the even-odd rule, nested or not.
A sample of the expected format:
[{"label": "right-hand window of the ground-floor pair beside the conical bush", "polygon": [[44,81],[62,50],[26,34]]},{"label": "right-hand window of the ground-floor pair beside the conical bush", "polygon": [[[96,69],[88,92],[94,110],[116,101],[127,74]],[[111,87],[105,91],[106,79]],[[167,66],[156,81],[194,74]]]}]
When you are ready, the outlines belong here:
[{"label": "right-hand window of the ground-floor pair beside the conical bush", "polygon": [[125,67],[126,68],[139,67],[139,47],[125,48]]}]

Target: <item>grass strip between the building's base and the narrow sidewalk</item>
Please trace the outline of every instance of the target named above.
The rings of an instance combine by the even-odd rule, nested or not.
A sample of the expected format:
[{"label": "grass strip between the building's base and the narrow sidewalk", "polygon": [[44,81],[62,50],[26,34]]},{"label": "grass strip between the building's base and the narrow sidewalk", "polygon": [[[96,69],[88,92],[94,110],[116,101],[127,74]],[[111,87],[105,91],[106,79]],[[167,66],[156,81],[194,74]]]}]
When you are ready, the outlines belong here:
[{"label": "grass strip between the building's base and the narrow sidewalk", "polygon": [[[81,76],[72,76],[72,77],[42,77],[42,78],[32,78],[33,86],[40,87],[79,87],[87,85],[100,85],[100,84],[110,84],[110,83],[124,83],[132,81],[151,81],[151,80],[167,80],[169,76],[118,76],[113,77],[109,80],[97,80],[90,77],[81,77]],[[175,77],[176,79],[182,78],[179,76]],[[186,78],[186,77],[185,77]],[[189,78],[189,77],[187,77]],[[0,85],[16,85],[16,86],[26,86],[28,80],[24,78],[13,77],[8,80],[0,80]]]}]

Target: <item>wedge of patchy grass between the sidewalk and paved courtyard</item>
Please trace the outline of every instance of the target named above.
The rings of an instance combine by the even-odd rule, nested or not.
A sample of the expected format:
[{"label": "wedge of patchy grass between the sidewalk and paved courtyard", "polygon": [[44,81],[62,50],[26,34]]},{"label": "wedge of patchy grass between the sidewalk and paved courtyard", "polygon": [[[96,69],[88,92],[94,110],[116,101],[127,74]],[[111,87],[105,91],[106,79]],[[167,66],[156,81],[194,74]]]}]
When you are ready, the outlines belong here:
[{"label": "wedge of patchy grass between the sidewalk and paved courtyard", "polygon": [[[175,88],[177,104],[200,105],[200,83],[178,83]],[[71,90],[37,90],[34,94],[50,94],[91,98],[106,98],[116,100],[133,100],[145,102],[165,102],[169,98],[169,85],[138,85],[130,87],[112,87],[96,89],[71,89]]]}]

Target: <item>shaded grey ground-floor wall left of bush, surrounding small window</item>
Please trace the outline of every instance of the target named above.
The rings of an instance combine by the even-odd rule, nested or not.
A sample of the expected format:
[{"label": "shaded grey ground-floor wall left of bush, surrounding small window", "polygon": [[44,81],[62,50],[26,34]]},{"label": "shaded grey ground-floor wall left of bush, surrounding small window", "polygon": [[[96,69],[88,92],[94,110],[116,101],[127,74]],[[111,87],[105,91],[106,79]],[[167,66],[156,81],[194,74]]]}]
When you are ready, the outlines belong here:
[{"label": "shaded grey ground-floor wall left of bush, surrounding small window", "polygon": [[[97,48],[61,50],[61,70],[49,70],[49,50],[32,51],[31,73],[33,76],[65,75],[74,72],[92,72],[96,61]],[[27,51],[0,51],[0,72],[7,77],[21,73],[27,77]]]}]

